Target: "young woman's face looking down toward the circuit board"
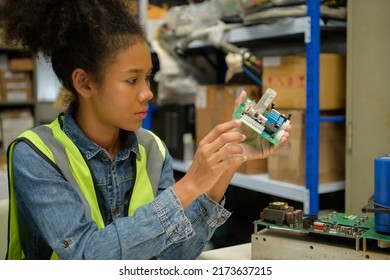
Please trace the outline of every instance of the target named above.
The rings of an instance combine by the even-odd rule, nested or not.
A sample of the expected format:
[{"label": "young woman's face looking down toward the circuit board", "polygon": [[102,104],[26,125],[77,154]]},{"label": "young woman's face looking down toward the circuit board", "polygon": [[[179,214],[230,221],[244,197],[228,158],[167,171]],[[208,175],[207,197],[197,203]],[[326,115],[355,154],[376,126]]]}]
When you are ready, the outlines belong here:
[{"label": "young woman's face looking down toward the circuit board", "polygon": [[116,56],[91,100],[100,125],[128,131],[141,127],[147,116],[148,101],[153,97],[149,84],[151,72],[152,60],[146,42],[140,41]]}]

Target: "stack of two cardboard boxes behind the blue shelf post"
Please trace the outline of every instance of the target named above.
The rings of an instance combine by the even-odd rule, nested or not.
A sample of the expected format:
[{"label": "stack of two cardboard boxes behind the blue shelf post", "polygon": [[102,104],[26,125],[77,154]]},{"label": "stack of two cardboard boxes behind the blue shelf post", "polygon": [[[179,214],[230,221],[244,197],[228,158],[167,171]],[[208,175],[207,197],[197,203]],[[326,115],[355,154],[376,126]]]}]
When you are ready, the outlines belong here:
[{"label": "stack of two cardboard boxes behind the blue shelf post", "polygon": [[[304,55],[264,58],[263,82],[276,90],[277,109],[291,114],[288,143],[268,159],[270,179],[306,185],[306,58]],[[344,113],[346,100],[345,56],[320,55],[321,115]],[[321,122],[319,183],[344,180],[345,124]]]}]

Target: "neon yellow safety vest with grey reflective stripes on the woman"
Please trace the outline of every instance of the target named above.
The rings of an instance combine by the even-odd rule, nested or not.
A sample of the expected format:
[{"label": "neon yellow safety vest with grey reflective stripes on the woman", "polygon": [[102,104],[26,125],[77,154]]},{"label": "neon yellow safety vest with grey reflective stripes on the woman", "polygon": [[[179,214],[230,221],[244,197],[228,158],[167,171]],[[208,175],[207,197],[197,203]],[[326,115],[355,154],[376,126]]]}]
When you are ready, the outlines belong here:
[{"label": "neon yellow safety vest with grey reflective stripes on the woman", "polygon": [[[23,132],[8,148],[9,182],[9,222],[7,259],[24,259],[16,206],[12,172],[12,152],[19,141],[30,145],[38,154],[63,174],[66,180],[79,194],[85,206],[85,215],[93,220],[98,229],[104,228],[104,221],[99,209],[92,173],[86,159],[77,146],[61,129],[63,116],[51,124],[38,126]],[[128,215],[151,202],[158,190],[166,150],[162,141],[151,131],[139,129],[136,132],[140,157],[136,157],[136,180],[130,198]],[[53,252],[52,259],[58,259]]]}]

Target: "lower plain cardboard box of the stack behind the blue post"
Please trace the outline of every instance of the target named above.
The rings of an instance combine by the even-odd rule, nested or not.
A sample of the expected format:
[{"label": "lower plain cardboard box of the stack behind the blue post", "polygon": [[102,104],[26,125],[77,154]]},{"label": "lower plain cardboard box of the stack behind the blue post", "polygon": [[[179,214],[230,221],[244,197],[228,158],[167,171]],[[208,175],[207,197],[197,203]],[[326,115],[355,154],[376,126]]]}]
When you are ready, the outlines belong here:
[{"label": "lower plain cardboard box of the stack behind the blue post", "polygon": [[[291,132],[284,147],[268,158],[270,179],[306,185],[305,111],[286,110]],[[345,178],[345,124],[323,122],[319,139],[319,183]]]}]

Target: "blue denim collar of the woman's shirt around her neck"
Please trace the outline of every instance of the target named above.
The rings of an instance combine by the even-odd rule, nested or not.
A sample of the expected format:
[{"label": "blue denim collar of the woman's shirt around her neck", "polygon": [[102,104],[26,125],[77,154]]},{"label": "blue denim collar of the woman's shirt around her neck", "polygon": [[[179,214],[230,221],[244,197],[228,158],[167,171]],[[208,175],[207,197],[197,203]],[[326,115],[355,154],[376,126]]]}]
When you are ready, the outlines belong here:
[{"label": "blue denim collar of the woman's shirt around her neck", "polygon": [[[62,130],[64,133],[75,143],[82,154],[89,160],[96,156],[98,153],[104,151],[104,149],[98,146],[95,142],[91,141],[84,132],[80,129],[74,119],[74,106],[69,106],[64,113],[64,120],[62,124]],[[117,159],[125,159],[129,157],[130,152],[134,152],[135,155],[140,158],[141,154],[138,149],[137,136],[133,131],[121,130],[121,137],[123,137],[124,145],[119,152]]]}]

